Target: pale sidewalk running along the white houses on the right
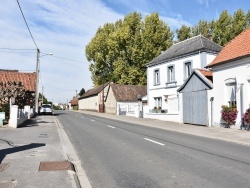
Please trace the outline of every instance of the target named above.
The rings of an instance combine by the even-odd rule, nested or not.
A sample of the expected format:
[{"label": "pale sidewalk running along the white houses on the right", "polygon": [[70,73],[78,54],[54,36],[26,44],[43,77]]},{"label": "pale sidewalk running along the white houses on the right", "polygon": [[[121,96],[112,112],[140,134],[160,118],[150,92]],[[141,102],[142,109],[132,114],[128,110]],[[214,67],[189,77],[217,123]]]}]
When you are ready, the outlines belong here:
[{"label": "pale sidewalk running along the white houses on the right", "polygon": [[76,112],[250,146],[250,131],[239,130],[233,126],[230,129],[223,127],[204,127],[154,119],[118,116],[92,111],[79,110]]}]

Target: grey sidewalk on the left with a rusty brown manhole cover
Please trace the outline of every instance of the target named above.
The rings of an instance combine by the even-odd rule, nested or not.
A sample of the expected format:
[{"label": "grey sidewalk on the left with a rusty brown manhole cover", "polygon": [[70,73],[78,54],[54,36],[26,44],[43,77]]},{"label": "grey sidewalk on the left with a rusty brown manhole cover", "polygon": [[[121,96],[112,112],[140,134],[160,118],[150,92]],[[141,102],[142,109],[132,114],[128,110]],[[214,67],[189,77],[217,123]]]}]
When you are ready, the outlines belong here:
[{"label": "grey sidewalk on the left with a rusty brown manhole cover", "polygon": [[63,131],[54,116],[37,116],[18,129],[1,127],[0,187],[80,187]]}]

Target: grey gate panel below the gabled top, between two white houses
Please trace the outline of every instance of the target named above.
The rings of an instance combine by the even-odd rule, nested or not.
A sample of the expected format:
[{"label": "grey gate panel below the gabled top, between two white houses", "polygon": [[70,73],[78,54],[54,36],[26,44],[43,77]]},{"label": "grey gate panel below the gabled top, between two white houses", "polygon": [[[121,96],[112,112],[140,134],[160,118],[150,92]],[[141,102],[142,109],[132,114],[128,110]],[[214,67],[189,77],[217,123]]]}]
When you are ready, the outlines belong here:
[{"label": "grey gate panel below the gabled top, between two white houses", "polygon": [[183,122],[207,125],[207,90],[183,93]]}]

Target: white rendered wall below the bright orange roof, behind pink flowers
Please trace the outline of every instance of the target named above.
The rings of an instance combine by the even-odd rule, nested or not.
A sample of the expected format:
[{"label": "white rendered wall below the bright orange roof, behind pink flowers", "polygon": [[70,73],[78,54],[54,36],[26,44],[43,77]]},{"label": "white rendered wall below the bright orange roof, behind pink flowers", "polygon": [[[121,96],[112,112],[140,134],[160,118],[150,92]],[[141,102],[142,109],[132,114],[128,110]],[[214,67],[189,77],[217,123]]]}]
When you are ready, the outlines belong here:
[{"label": "white rendered wall below the bright orange roof, behind pink flowers", "polygon": [[[232,63],[227,63],[213,68],[213,85],[214,85],[214,125],[220,125],[221,105],[228,105],[227,86],[225,80],[228,78],[236,78],[237,93],[236,102],[238,117],[236,127],[240,126],[241,115],[249,108],[250,103],[250,58],[245,58]],[[232,79],[233,80],[233,79]],[[240,87],[243,87],[241,94]],[[243,112],[241,111],[241,96],[243,101]]]}]

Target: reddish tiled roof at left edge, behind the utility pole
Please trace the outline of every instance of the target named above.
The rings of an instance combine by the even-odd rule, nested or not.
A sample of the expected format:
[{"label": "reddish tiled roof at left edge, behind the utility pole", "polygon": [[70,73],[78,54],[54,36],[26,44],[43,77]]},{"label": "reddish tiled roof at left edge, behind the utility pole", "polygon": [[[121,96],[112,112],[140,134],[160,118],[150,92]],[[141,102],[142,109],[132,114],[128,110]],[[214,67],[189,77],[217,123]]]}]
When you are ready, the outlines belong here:
[{"label": "reddish tiled roof at left edge, behind the utility pole", "polygon": [[25,90],[36,91],[36,73],[23,73],[17,70],[3,70],[0,69],[0,82],[7,83],[8,81],[22,82]]}]

